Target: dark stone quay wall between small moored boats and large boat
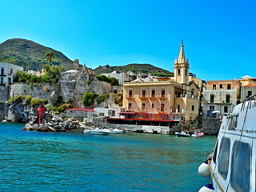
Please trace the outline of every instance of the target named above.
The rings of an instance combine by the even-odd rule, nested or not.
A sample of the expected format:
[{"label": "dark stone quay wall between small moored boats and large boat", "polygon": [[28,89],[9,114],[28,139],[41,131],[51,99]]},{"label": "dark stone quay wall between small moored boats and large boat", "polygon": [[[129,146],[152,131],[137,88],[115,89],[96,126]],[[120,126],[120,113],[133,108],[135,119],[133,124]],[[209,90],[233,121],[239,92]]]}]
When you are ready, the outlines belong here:
[{"label": "dark stone quay wall between small moored boats and large boat", "polygon": [[202,118],[202,132],[204,134],[218,135],[218,130],[220,126],[220,118]]}]

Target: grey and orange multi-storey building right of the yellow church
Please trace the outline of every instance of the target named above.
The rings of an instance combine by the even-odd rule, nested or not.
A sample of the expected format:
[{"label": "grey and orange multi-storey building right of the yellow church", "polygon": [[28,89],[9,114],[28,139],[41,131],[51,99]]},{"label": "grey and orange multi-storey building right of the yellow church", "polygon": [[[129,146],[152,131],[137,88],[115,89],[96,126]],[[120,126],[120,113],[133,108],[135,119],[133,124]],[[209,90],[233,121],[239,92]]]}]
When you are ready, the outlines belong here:
[{"label": "grey and orange multi-storey building right of the yellow church", "polygon": [[208,81],[203,90],[202,112],[204,117],[218,118],[230,114],[241,102],[242,83],[238,80]]}]

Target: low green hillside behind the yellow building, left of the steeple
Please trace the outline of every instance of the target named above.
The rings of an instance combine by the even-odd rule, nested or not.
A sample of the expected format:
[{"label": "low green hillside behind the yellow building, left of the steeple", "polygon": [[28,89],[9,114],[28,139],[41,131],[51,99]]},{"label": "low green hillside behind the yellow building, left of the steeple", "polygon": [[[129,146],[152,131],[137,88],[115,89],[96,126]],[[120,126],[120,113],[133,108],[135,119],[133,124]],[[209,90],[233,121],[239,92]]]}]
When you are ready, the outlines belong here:
[{"label": "low green hillside behind the yellow building, left of the steeple", "polygon": [[126,66],[98,66],[98,68],[94,69],[96,74],[108,74],[113,72],[114,70],[118,73],[120,72],[134,72],[134,74],[153,74],[155,76],[160,77],[173,77],[174,73],[169,70],[163,70],[162,68],[152,66],[150,64],[129,64]]}]

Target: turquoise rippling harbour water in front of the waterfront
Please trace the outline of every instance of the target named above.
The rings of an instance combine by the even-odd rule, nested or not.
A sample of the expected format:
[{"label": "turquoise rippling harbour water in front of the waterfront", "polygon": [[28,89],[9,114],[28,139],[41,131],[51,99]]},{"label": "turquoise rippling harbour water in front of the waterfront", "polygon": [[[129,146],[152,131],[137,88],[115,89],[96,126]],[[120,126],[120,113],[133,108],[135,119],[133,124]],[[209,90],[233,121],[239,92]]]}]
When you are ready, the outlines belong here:
[{"label": "turquoise rippling harbour water in front of the waterfront", "polygon": [[0,191],[198,191],[216,137],[41,133],[0,123]]}]

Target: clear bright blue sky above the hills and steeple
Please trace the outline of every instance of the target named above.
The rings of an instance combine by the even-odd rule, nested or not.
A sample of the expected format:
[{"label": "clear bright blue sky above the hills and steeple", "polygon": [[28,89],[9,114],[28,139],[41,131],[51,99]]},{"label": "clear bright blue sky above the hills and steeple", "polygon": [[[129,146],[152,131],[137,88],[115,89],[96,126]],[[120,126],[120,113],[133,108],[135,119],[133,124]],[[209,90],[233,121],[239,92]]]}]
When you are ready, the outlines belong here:
[{"label": "clear bright blue sky above the hills and steeple", "polygon": [[26,38],[93,69],[136,62],[174,71],[184,39],[198,78],[256,78],[255,10],[254,0],[8,0],[0,42]]}]

